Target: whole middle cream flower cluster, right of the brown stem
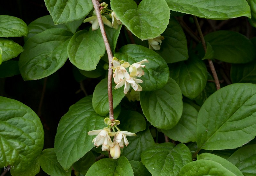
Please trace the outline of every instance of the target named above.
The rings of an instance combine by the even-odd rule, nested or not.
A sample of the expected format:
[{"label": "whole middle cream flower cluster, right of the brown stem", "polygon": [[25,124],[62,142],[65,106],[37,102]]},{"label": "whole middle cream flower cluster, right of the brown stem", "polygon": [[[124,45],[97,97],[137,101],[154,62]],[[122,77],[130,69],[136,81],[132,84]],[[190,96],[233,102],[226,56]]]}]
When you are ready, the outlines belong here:
[{"label": "whole middle cream flower cluster, right of the brown stem", "polygon": [[[145,68],[145,65],[141,64],[147,62],[148,60],[144,59],[131,65],[129,62],[118,61],[116,57],[113,57],[112,69],[114,73],[113,78],[116,83],[115,89],[124,85],[124,94],[126,94],[130,90],[131,85],[134,91],[142,91],[142,87],[139,83],[142,83],[143,81],[141,79],[137,79],[137,77],[144,75],[144,71],[141,68]],[[130,74],[126,70],[128,67]]]}]

